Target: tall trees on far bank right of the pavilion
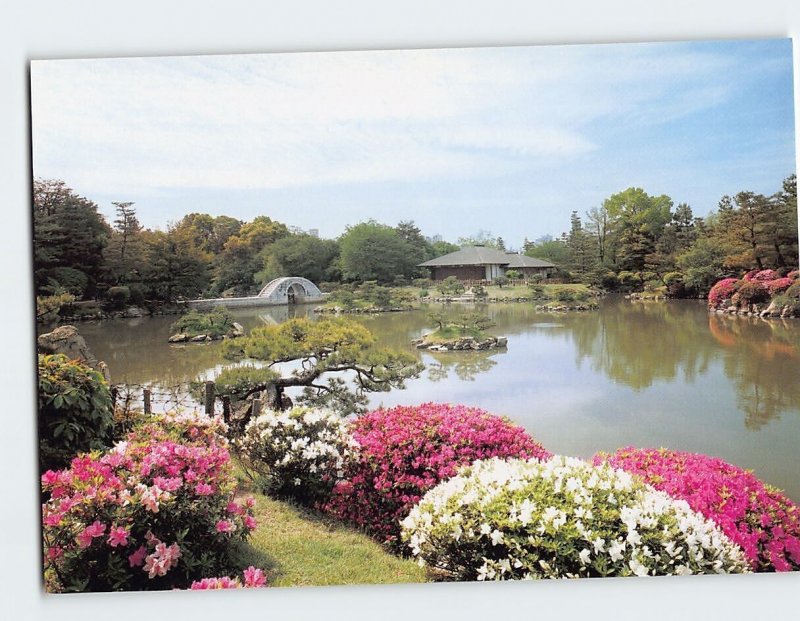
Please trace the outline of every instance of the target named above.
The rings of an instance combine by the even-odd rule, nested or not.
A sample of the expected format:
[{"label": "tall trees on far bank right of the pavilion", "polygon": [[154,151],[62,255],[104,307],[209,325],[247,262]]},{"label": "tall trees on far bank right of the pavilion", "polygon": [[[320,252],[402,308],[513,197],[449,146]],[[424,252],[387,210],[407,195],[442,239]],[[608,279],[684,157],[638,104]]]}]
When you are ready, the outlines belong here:
[{"label": "tall trees on far bank right of the pavilion", "polygon": [[797,178],[770,196],[723,196],[705,218],[686,203],[641,188],[613,194],[582,217],[573,211],[558,239],[525,242],[525,253],[560,266],[565,277],[606,289],[665,287],[705,294],[721,278],[752,269],[797,268]]}]

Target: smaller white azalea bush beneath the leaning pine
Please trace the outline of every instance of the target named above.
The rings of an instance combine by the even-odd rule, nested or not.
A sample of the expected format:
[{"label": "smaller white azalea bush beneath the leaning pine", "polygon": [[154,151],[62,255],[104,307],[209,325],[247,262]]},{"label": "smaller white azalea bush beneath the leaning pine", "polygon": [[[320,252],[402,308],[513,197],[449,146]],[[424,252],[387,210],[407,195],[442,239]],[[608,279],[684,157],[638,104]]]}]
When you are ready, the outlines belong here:
[{"label": "smaller white azalea bush beneath the leaning pine", "polygon": [[307,407],[268,410],[236,441],[243,464],[265,492],[305,503],[328,499],[355,446],[341,416]]}]

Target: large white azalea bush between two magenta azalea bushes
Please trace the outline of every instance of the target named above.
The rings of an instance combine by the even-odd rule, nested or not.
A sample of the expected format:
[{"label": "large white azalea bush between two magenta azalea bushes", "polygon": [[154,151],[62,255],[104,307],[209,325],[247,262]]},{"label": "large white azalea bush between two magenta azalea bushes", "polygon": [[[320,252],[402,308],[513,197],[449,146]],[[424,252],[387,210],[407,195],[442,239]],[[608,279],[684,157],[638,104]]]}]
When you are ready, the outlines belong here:
[{"label": "large white azalea bush between two magenta azalea bushes", "polygon": [[569,457],[476,461],[401,526],[420,564],[454,580],[749,571],[741,548],[686,502]]}]

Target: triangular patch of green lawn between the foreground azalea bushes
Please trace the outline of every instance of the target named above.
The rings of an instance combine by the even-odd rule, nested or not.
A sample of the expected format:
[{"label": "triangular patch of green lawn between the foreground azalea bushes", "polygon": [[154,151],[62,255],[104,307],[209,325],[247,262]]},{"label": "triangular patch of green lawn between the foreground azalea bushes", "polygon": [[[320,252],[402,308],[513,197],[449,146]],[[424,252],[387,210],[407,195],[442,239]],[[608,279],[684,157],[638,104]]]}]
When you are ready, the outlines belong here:
[{"label": "triangular patch of green lawn between the foreground azalea bushes", "polygon": [[409,559],[336,520],[253,493],[258,527],[240,546],[237,565],[261,567],[270,586],[425,582]]}]

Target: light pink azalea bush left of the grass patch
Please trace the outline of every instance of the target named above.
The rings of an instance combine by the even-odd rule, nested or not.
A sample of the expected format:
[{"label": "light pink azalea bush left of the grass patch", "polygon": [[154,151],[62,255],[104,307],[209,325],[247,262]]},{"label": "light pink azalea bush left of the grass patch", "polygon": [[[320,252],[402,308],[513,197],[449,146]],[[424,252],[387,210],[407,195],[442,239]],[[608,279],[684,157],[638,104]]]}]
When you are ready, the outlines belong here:
[{"label": "light pink azalea bush left of the grass patch", "polygon": [[219,419],[154,417],[112,450],[42,475],[48,584],[62,591],[186,587],[229,569],[229,546],[255,528]]}]

